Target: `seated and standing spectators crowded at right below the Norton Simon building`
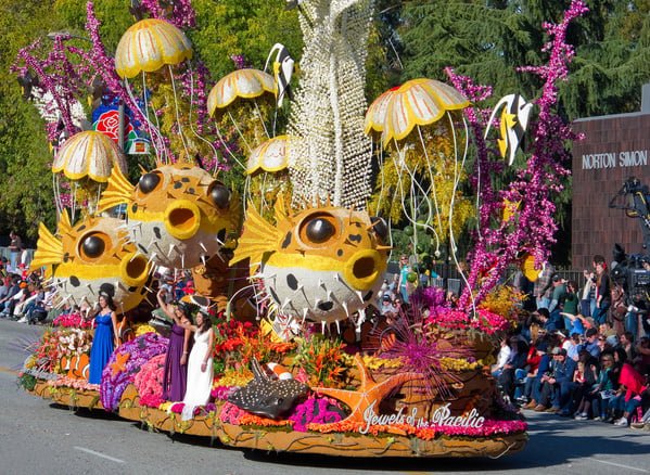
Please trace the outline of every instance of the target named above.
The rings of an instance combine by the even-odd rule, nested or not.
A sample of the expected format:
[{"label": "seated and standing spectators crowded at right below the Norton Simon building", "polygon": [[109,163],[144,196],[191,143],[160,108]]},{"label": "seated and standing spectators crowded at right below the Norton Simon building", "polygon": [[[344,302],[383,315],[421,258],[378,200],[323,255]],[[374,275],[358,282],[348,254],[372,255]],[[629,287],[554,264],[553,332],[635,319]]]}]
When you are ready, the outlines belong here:
[{"label": "seated and standing spectators crowded at right below the Norton Simon building", "polygon": [[585,286],[547,265],[532,285],[536,309],[504,339],[492,369],[525,410],[650,431],[650,321],[612,282],[602,256]]}]

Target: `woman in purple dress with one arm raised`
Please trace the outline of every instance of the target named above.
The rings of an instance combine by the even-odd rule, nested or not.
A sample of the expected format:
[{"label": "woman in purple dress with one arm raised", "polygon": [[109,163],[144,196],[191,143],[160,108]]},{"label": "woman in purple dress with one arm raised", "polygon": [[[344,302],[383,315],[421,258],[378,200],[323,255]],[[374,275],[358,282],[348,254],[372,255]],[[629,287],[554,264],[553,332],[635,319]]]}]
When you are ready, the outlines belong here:
[{"label": "woman in purple dress with one arm raised", "polygon": [[182,401],[186,396],[188,381],[188,355],[190,352],[190,336],[192,332],[182,324],[192,323],[191,314],[186,307],[165,303],[167,291],[161,288],[157,293],[158,305],[174,324],[169,335],[169,346],[163,370],[163,399],[166,401]]}]

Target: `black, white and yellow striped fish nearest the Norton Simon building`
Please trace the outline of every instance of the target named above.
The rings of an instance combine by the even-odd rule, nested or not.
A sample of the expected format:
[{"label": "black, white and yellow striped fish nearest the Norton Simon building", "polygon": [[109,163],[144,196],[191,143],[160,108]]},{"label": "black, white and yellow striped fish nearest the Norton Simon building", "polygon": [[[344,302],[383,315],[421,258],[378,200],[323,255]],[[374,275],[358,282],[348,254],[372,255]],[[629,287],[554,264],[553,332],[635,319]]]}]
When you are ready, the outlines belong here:
[{"label": "black, white and yellow striped fish nearest the Norton Simon building", "polygon": [[520,94],[508,94],[501,98],[489,116],[484,138],[487,138],[494,118],[501,107],[504,108],[499,128],[501,137],[497,139],[497,142],[501,156],[508,158],[508,165],[512,165],[517,149],[519,149],[528,127],[533,104],[526,102]]}]

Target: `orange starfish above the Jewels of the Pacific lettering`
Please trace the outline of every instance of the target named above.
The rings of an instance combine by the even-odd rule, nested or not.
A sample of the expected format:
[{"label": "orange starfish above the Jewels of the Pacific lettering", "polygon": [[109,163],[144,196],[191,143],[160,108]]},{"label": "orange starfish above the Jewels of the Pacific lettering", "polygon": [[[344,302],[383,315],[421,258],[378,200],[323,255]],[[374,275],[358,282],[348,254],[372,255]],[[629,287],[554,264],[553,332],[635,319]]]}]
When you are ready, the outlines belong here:
[{"label": "orange starfish above the Jewels of the Pacific lettering", "polygon": [[359,390],[335,389],[331,387],[311,388],[319,394],[331,396],[345,402],[352,409],[352,413],[341,422],[364,422],[364,412],[371,406],[374,414],[379,415],[377,408],[388,393],[408,381],[422,378],[420,373],[400,373],[381,383],[375,383],[358,354],[355,356],[355,364],[361,373]]}]

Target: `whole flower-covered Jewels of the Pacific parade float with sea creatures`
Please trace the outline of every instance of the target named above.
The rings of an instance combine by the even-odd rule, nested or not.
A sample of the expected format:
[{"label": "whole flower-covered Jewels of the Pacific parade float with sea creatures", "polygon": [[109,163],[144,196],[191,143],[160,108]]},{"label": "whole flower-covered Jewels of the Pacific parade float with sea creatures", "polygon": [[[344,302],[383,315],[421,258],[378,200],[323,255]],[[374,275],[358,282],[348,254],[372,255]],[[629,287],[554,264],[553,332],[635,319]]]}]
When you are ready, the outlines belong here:
[{"label": "whole flower-covered Jewels of the Pacific parade float with sea creatures", "polygon": [[[238,69],[206,93],[205,72],[192,63],[181,30],[193,22],[189,2],[142,2],[139,13],[150,17],[125,34],[114,56],[90,2],[90,50],[58,37],[58,54],[47,60],[34,46],[21,52],[14,69],[23,78],[42,75],[36,100],[49,93],[42,107],[50,116],[56,110],[52,171],[72,183],[65,194],[56,181],[61,218],[54,232],[41,224],[33,266],[46,268],[59,306],[92,309],[101,293],[111,295],[131,332],[101,384],[89,384],[93,330],[73,307],[30,347],[20,383],[58,403],[237,448],[346,457],[517,452],[526,423],[489,375],[495,344],[515,325],[521,304],[499,278],[522,256],[540,264],[552,243],[551,194],[568,174],[564,144],[575,139],[553,114],[556,84],[572,56],[566,25],[584,4],[574,1],[562,23],[548,26],[550,65],[521,68],[540,77],[541,95],[531,104],[519,95],[500,101],[497,139],[486,131],[489,111],[480,108],[490,88],[450,69],[448,84],[408,81],[368,107],[361,44],[372,2],[295,3],[305,49],[284,136],[270,137],[275,125],[265,123],[289,95],[293,60],[278,46],[275,74]],[[53,67],[73,54],[67,67]],[[76,80],[64,81],[61,72]],[[133,77],[142,85],[129,82]],[[98,78],[104,102],[120,102],[130,132],[152,149],[154,167],[140,165],[135,185],[119,151],[93,152],[74,117],[79,85]],[[257,141],[240,170],[241,198],[217,176],[241,164],[225,144],[238,140],[225,137],[229,121],[242,141]],[[506,189],[494,189],[490,175],[505,161],[512,165],[524,133],[525,166]],[[110,176],[98,171],[106,167]],[[472,198],[461,193],[467,181]],[[475,245],[464,267],[455,236],[472,214]],[[432,236],[436,255],[443,243],[451,249],[463,279],[455,308],[443,290],[420,287],[407,310],[377,311],[392,223],[405,221]],[[128,317],[155,300],[160,266],[192,271],[201,295],[191,301],[212,314],[212,394],[191,418],[182,416],[181,401],[162,397],[169,333],[142,319],[146,309]]]}]

